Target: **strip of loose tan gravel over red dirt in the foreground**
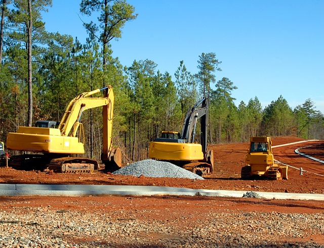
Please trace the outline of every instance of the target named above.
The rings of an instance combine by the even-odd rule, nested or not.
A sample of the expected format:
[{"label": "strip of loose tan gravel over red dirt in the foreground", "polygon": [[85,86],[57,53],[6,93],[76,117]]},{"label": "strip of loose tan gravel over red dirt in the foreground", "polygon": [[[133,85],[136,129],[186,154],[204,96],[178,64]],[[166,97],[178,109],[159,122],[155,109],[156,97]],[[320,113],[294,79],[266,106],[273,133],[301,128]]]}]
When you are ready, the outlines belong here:
[{"label": "strip of loose tan gravel over red dirt in the foreground", "polygon": [[324,247],[309,238],[324,234],[324,213],[137,218],[147,211],[152,210],[90,213],[47,206],[1,211],[0,247]]}]

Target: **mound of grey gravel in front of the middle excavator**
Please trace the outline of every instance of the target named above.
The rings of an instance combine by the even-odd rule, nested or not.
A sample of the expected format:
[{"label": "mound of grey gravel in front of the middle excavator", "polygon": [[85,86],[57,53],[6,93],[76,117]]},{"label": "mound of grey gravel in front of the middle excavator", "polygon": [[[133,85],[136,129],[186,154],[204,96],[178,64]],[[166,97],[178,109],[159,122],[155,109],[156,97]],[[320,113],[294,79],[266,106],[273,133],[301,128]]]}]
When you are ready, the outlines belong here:
[{"label": "mound of grey gravel in front of the middle excavator", "polygon": [[145,159],[138,162],[128,164],[114,173],[114,175],[130,175],[139,177],[141,175],[145,177],[170,177],[170,178],[189,178],[189,179],[201,179],[204,178],[182,169],[173,163],[157,161],[153,159]]}]

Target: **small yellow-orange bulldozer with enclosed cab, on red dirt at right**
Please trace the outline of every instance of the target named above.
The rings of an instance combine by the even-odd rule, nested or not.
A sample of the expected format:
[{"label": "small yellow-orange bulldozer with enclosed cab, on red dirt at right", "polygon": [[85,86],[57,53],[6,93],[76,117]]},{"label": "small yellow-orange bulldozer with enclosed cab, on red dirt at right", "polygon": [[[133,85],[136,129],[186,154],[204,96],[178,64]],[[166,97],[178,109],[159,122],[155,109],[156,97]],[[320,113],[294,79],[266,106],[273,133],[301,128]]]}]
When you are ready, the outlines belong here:
[{"label": "small yellow-orange bulldozer with enclosed cab, on red dirt at right", "polygon": [[247,166],[241,169],[241,179],[264,177],[270,180],[288,179],[288,166],[274,162],[270,137],[251,137]]}]

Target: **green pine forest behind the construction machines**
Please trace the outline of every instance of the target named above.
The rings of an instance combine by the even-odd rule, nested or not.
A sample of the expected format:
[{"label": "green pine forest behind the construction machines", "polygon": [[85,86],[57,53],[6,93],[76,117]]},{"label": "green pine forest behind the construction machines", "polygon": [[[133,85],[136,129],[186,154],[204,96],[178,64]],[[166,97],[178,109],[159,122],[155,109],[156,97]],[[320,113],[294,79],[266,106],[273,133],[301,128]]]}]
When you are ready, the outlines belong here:
[{"label": "green pine forest behind the construction machines", "polygon": [[[124,0],[80,1],[80,13],[95,16],[84,23],[89,34],[85,44],[46,31],[41,14],[51,6],[51,0],[1,1],[1,141],[6,142],[8,132],[33,126],[36,120],[60,121],[74,97],[107,85],[115,95],[113,142],[128,160],[147,158],[149,142],[161,131],[180,132],[187,110],[204,96],[210,100],[209,144],[265,135],[324,139],[324,117],[311,99],[294,109],[282,96],[264,109],[257,96],[236,106],[232,92],[239,89],[230,78],[216,80],[221,61],[214,52],[197,58],[196,74],[183,61],[165,73],[149,59],[134,60],[130,67],[120,64],[112,56],[110,41],[121,38],[123,27],[137,17]],[[102,109],[88,110],[81,122],[86,155],[99,159]]]}]

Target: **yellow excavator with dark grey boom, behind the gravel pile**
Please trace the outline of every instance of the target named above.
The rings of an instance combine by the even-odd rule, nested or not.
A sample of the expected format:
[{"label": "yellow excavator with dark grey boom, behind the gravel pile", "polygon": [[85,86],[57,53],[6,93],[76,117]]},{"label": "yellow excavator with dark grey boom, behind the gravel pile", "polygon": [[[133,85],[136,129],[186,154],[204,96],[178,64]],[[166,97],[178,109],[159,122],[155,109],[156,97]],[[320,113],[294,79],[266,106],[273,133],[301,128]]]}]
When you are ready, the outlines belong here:
[{"label": "yellow excavator with dark grey boom, behind the gravel pile", "polygon": [[[209,101],[203,98],[188,110],[181,135],[163,131],[149,145],[149,158],[169,161],[200,176],[213,173],[214,155],[207,149]],[[200,144],[194,143],[197,120],[200,118]]]}]

